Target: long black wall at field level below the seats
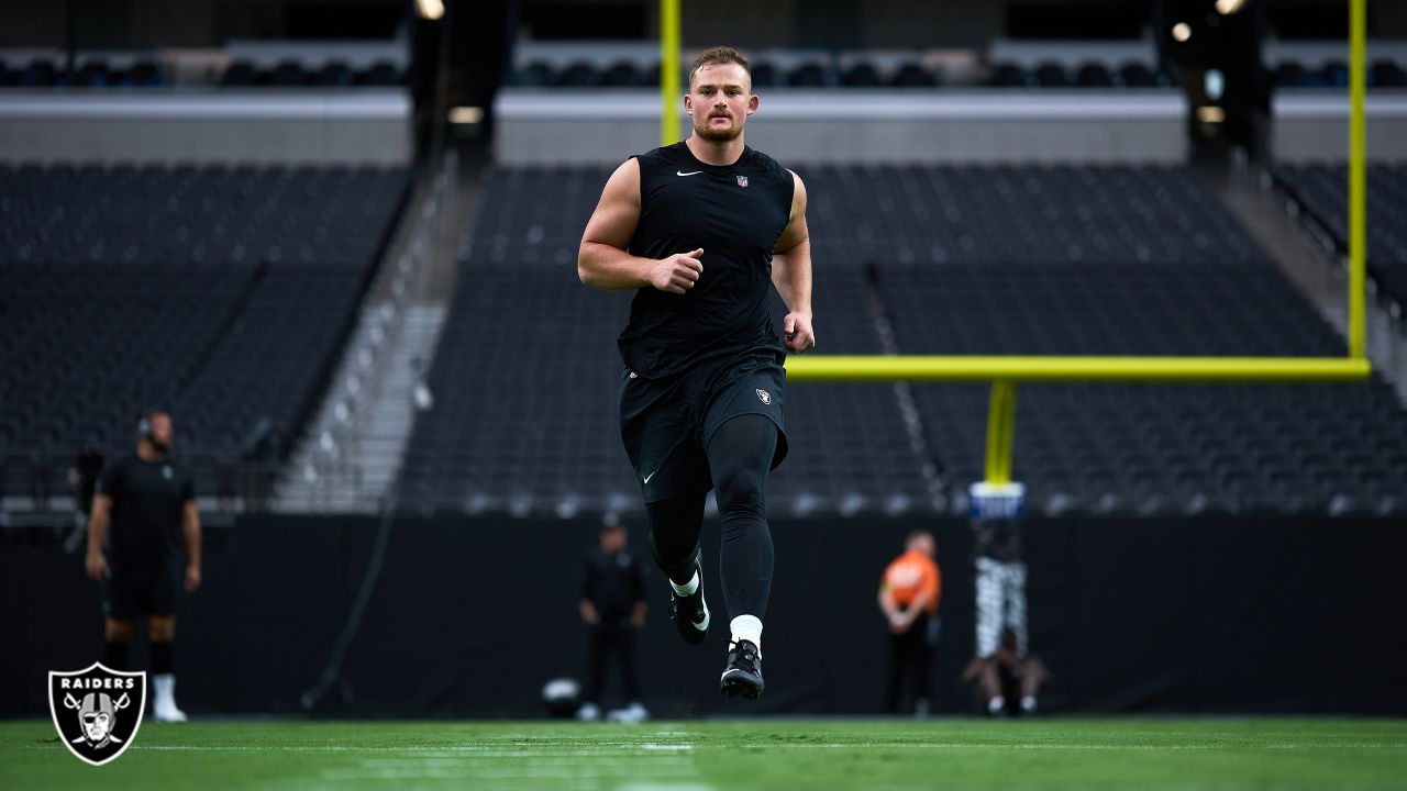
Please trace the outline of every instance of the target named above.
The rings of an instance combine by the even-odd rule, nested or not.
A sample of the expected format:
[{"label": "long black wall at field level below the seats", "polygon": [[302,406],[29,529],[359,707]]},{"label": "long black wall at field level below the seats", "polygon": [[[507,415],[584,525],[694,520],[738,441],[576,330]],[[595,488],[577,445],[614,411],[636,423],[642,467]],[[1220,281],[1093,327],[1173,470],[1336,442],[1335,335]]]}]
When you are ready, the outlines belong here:
[{"label": "long black wall at field level below the seats", "polygon": [[[367,567],[374,518],[252,515],[208,531],[204,586],[180,609],[177,670],[196,716],[298,715]],[[581,562],[598,522],[401,518],[319,716],[537,716],[539,691],[580,678]],[[905,533],[936,531],[944,629],[937,712],[974,711],[958,677],[974,646],[971,533],[961,519],[774,522],[767,694],[720,698],[726,622],[688,647],[663,578],[639,646],[656,716],[878,712],[886,633],[877,580]],[[48,716],[49,670],[101,649],[97,588],[56,542],[0,543],[0,716]],[[630,540],[644,553],[643,531]],[[1050,712],[1407,714],[1407,532],[1372,518],[1033,519],[1031,643],[1054,673]],[[718,529],[705,531],[718,557]],[[644,555],[647,557],[647,555]],[[145,646],[134,649],[145,667]]]}]

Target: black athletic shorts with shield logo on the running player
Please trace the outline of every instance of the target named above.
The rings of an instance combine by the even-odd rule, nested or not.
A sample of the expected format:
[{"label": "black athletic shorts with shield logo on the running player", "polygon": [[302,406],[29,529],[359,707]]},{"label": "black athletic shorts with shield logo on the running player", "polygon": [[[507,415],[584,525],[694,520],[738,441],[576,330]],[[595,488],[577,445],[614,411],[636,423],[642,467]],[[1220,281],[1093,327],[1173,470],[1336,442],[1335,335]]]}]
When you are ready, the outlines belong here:
[{"label": "black athletic shorts with shield logo on the running player", "polygon": [[737,415],[765,415],[777,425],[772,469],[787,457],[782,407],[787,369],[774,352],[699,363],[668,379],[620,373],[620,439],[646,502],[713,487],[705,449]]}]

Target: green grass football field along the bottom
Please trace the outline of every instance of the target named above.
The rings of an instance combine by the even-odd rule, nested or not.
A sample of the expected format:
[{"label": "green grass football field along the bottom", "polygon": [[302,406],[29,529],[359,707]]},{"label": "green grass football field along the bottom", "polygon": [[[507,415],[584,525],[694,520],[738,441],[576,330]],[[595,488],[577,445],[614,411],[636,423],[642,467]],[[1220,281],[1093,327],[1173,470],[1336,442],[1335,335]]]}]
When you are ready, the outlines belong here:
[{"label": "green grass football field along the bottom", "polygon": [[0,788],[1407,788],[1407,722],[146,723],[90,767],[24,721],[0,722]]}]

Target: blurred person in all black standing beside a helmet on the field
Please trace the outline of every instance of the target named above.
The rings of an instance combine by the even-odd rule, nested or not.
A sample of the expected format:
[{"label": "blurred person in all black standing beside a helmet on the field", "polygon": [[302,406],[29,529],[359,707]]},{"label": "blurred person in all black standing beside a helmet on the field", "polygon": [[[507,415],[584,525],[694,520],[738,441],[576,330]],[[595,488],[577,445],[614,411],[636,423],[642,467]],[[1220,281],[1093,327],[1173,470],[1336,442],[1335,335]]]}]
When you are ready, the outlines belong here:
[{"label": "blurred person in all black standing beside a helmet on the field", "polygon": [[625,525],[608,519],[601,528],[601,549],[587,555],[587,573],[581,584],[581,619],[591,629],[587,654],[587,688],[580,719],[601,718],[601,692],[606,666],[613,653],[625,683],[626,708],[612,712],[612,719],[640,722],[649,712],[640,702],[640,683],[635,673],[635,633],[644,626],[644,574],[626,549]]}]

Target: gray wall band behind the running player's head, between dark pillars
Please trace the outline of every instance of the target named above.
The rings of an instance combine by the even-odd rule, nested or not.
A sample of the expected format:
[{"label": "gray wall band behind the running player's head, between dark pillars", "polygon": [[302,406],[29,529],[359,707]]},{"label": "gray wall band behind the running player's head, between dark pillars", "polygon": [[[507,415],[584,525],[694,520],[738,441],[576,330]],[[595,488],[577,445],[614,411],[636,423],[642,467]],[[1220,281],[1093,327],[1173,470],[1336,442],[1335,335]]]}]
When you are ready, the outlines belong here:
[{"label": "gray wall band behind the running player's head, between dark pillars", "polygon": [[[495,108],[502,163],[609,163],[658,145],[650,90],[516,89]],[[770,90],[747,142],[784,162],[1180,162],[1185,113],[1178,91]]]}]

